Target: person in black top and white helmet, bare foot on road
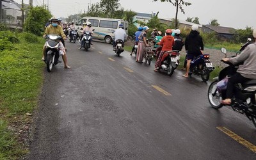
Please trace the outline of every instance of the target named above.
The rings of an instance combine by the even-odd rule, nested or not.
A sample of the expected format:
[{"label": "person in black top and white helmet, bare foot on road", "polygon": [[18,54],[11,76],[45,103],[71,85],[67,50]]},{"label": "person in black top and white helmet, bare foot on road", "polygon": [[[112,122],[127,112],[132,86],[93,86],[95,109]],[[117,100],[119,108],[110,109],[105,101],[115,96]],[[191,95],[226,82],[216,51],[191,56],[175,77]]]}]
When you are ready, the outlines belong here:
[{"label": "person in black top and white helmet, bare foot on road", "polygon": [[191,32],[189,33],[185,40],[185,49],[186,51],[188,51],[188,53],[186,74],[182,75],[183,77],[188,77],[191,60],[193,60],[196,56],[202,54],[201,50],[204,51],[203,38],[199,35],[198,25],[193,24],[191,29]]}]

